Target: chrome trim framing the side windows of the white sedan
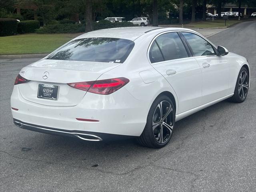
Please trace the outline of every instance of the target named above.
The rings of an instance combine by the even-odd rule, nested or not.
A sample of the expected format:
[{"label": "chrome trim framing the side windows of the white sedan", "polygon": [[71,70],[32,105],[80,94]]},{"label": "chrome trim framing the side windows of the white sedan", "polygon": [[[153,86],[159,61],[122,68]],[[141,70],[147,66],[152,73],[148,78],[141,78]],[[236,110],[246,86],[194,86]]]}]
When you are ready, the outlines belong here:
[{"label": "chrome trim framing the side windows of the white sedan", "polygon": [[164,31],[164,32],[161,32],[159,34],[157,34],[153,39],[152,41],[150,42],[149,46],[148,46],[148,50],[147,50],[147,58],[148,58],[148,62],[151,64],[151,65],[155,65],[155,64],[160,64],[160,63],[166,63],[166,62],[170,62],[170,61],[176,61],[176,60],[182,60],[182,59],[187,59],[187,58],[202,58],[202,57],[212,57],[212,56],[218,56],[217,54],[216,55],[204,55],[204,56],[192,56],[192,57],[185,57],[185,58],[179,58],[179,59],[172,59],[172,60],[166,60],[166,61],[160,61],[160,62],[155,62],[155,63],[152,63],[150,61],[150,58],[149,58],[149,51],[150,51],[150,48],[154,42],[154,40],[156,40],[156,38],[158,38],[160,35],[162,34],[166,34],[166,33],[171,33],[171,32],[188,32],[188,33],[193,33],[195,35],[198,35],[200,36],[201,38],[203,38],[204,40],[206,40],[208,43],[210,43],[214,48],[217,49],[217,47],[212,43],[210,42],[208,39],[206,39],[204,36],[202,36],[201,34],[197,33],[197,32],[194,32],[194,31],[189,31],[189,30],[168,30],[168,31]]}]

